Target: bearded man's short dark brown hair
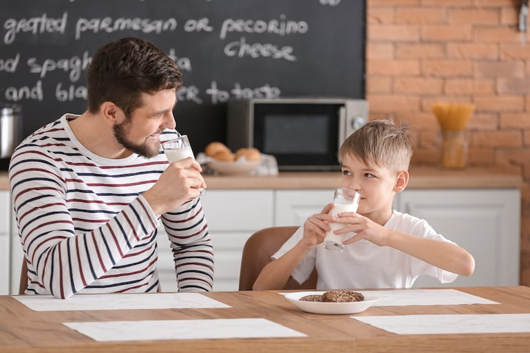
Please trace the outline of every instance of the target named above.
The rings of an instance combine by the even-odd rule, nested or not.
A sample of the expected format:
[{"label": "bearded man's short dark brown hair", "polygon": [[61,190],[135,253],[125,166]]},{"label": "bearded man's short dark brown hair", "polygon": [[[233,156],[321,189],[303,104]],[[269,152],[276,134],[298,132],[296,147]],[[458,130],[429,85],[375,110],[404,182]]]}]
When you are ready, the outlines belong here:
[{"label": "bearded man's short dark brown hair", "polygon": [[109,101],[129,116],[141,107],[142,93],[181,86],[180,69],[162,50],[143,39],[118,39],[100,47],[87,68],[88,109],[96,113]]}]

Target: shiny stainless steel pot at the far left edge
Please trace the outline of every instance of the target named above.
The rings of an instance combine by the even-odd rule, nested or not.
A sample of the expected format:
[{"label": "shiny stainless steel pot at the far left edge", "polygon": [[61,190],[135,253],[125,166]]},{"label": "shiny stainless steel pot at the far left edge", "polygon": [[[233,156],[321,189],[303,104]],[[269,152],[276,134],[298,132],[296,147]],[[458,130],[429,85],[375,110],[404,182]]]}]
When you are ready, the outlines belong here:
[{"label": "shiny stainless steel pot at the far left edge", "polygon": [[19,105],[0,105],[0,158],[10,158],[21,142],[22,114]]}]

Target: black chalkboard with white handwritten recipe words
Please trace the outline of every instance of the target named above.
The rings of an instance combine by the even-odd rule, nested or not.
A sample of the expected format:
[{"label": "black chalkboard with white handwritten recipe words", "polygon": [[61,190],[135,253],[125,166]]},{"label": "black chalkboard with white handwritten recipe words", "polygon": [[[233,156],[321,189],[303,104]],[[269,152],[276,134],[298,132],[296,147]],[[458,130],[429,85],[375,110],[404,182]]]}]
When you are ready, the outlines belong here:
[{"label": "black chalkboard with white handwritten recipe words", "polygon": [[174,114],[195,150],[226,140],[226,100],[364,98],[363,0],[0,0],[0,103],[24,136],[85,111],[101,45],[147,39],[182,70]]}]

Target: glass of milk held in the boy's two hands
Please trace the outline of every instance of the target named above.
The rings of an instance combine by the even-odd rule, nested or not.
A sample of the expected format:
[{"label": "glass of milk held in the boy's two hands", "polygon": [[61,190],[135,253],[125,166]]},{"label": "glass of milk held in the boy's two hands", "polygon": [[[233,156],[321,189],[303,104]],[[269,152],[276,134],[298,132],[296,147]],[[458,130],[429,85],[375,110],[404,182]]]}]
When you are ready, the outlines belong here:
[{"label": "glass of milk held in the boy's two hands", "polygon": [[[343,212],[357,212],[357,207],[359,206],[359,199],[361,195],[357,191],[338,188],[335,189],[335,195],[333,195],[333,208],[331,208],[330,215],[337,217],[339,213]],[[340,223],[330,223],[328,224],[331,228],[331,231],[326,233],[324,237],[324,248],[328,250],[337,251],[337,253],[342,253],[344,246],[342,242],[344,241],[346,234],[335,234],[333,231],[343,228],[345,224]]]}]

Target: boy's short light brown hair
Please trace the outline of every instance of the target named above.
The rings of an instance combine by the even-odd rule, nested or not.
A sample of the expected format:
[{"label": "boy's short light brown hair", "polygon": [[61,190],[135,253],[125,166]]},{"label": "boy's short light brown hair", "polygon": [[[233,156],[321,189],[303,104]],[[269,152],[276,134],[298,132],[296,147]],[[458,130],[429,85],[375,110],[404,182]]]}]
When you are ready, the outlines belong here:
[{"label": "boy's short light brown hair", "polygon": [[412,146],[408,129],[390,120],[372,120],[344,140],[339,159],[346,155],[360,158],[365,164],[377,164],[390,171],[408,170]]}]

